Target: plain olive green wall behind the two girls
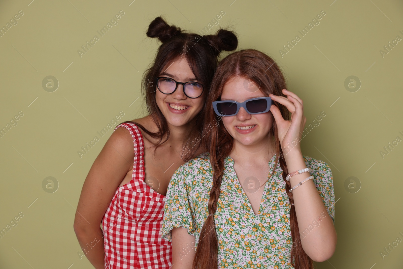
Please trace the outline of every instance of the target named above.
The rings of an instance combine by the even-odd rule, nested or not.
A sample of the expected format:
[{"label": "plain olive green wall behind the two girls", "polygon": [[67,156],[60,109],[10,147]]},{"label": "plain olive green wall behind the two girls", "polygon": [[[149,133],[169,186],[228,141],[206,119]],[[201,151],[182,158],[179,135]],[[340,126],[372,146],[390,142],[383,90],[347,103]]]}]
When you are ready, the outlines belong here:
[{"label": "plain olive green wall behind the two girls", "polygon": [[[165,15],[198,31],[221,10],[225,15],[210,32],[231,27],[239,48],[272,56],[288,90],[304,101],[306,126],[326,113],[302,139],[304,155],[330,165],[337,201],[337,249],[317,268],[402,268],[402,243],[383,259],[380,252],[403,240],[403,142],[383,158],[380,151],[403,139],[403,42],[383,57],[380,50],[403,38],[403,3],[333,1],[1,1],[0,27],[19,10],[24,15],[0,37],[0,128],[23,113],[0,137],[0,229],[19,212],[24,216],[0,239],[0,268],[93,268],[79,258],[75,209],[113,128],[102,138],[97,131],[120,111],[119,123],[145,115],[140,81],[159,45],[146,37],[147,26]],[[120,10],[118,24],[100,37],[97,31]],[[319,25],[301,37],[298,31],[321,10]],[[100,40],[80,57],[77,50],[94,35]],[[301,40],[282,57],[279,50],[296,35]],[[358,84],[345,88],[352,75],[358,91]],[[57,79],[57,90],[42,86],[47,76]],[[100,140],[80,158],[94,136]],[[46,177],[56,179],[56,192],[43,187]]]}]

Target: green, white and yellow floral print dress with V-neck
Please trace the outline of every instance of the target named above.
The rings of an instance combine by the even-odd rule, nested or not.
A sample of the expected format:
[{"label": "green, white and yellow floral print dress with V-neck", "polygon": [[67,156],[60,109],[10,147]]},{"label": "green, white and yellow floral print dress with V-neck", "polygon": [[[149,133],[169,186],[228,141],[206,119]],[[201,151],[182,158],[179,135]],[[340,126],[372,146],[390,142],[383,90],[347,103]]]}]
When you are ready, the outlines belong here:
[{"label": "green, white and yellow floral print dress with V-neck", "polygon": [[[269,175],[275,158],[276,154],[269,162]],[[329,165],[308,156],[303,158],[307,167],[312,169],[315,186],[334,224],[334,188]],[[273,176],[264,186],[258,215],[254,214],[233,166],[234,160],[227,156],[214,215],[218,268],[294,268],[290,263],[293,244],[289,221],[291,205],[280,164],[277,163]],[[177,169],[166,194],[162,222],[164,239],[171,241],[171,229],[182,226],[195,236],[197,248],[208,216],[211,188],[212,168],[208,153]]]}]

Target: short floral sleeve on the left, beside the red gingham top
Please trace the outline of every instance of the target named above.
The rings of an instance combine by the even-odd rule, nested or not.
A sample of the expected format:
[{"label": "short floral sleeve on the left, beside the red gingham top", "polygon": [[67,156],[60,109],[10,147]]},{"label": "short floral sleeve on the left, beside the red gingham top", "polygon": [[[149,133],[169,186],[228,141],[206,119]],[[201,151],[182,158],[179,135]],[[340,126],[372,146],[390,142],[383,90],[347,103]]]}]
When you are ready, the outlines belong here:
[{"label": "short floral sleeve on the left, beside the red gingham top", "polygon": [[168,241],[172,241],[171,230],[177,227],[187,228],[188,234],[196,236],[197,225],[192,215],[187,177],[189,173],[185,164],[175,171],[168,185],[162,221],[162,238]]}]

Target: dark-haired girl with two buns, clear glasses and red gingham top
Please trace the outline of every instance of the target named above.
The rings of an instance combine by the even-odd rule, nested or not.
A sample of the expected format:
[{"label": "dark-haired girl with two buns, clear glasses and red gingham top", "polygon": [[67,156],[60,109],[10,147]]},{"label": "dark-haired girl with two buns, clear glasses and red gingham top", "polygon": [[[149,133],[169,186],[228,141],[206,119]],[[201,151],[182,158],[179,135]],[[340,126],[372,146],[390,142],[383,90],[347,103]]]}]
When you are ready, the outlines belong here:
[{"label": "dark-haired girl with two buns, clear glasses and red gingham top", "polygon": [[182,158],[198,151],[183,149],[200,136],[218,55],[237,47],[231,31],[200,36],[160,17],[150,23],[147,36],[162,42],[143,77],[150,114],[116,126],[77,206],[74,230],[99,269],[170,267],[171,244],[161,238],[168,182]]}]

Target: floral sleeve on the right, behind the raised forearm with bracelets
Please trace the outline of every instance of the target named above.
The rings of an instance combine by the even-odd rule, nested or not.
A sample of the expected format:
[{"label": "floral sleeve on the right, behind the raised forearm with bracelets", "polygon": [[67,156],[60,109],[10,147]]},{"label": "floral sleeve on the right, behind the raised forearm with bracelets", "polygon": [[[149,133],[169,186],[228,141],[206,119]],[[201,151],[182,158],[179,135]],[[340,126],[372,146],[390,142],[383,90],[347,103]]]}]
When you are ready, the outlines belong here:
[{"label": "floral sleeve on the right, behind the raised forearm with bracelets", "polygon": [[311,160],[312,161],[309,161],[308,157],[307,165],[309,166],[307,167],[312,169],[311,175],[314,176],[316,189],[334,225],[334,187],[332,171],[329,165],[324,161],[315,160],[313,158],[311,158]]}]

